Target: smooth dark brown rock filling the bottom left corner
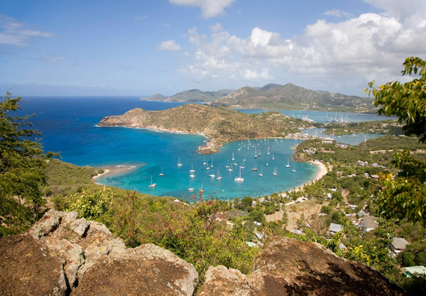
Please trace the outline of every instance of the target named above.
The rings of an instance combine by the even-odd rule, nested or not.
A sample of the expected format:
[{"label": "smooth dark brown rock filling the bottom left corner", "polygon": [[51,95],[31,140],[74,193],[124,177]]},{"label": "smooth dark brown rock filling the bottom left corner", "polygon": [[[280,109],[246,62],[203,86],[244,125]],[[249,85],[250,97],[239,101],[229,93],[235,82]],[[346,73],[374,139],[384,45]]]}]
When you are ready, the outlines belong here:
[{"label": "smooth dark brown rock filling the bottom left corner", "polygon": [[0,239],[1,295],[65,295],[63,264],[31,235],[6,236]]}]

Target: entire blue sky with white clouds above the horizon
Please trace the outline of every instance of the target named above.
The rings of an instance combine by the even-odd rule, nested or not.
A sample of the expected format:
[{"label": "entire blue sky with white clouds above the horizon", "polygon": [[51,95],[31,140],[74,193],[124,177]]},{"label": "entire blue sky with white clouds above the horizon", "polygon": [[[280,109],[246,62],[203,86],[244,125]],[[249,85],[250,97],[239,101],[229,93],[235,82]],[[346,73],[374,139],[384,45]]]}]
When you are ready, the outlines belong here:
[{"label": "entire blue sky with white clouds above the horizon", "polygon": [[[0,94],[364,95],[426,60],[425,0],[0,0]],[[411,78],[413,79],[413,77]]]}]

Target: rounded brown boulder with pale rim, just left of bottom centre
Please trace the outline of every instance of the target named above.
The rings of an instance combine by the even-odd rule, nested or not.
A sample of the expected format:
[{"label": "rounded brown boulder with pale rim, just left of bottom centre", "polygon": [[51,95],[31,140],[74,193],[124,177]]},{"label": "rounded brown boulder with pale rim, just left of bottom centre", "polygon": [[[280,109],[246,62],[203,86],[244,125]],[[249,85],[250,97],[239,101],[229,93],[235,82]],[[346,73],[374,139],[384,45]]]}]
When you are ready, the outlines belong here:
[{"label": "rounded brown boulder with pale rim, just left of bottom centre", "polygon": [[71,295],[192,295],[197,282],[192,264],[148,243],[99,258]]}]

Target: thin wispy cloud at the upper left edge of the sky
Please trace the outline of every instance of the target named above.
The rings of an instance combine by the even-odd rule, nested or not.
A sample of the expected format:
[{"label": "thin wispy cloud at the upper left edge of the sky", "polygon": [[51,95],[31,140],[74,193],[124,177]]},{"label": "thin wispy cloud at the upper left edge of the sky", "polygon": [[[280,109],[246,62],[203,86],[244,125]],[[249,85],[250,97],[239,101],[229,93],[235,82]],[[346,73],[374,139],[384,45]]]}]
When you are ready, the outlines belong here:
[{"label": "thin wispy cloud at the upper left edge of the sky", "polygon": [[52,37],[53,33],[32,30],[26,23],[0,13],[0,44],[26,46],[34,37]]}]

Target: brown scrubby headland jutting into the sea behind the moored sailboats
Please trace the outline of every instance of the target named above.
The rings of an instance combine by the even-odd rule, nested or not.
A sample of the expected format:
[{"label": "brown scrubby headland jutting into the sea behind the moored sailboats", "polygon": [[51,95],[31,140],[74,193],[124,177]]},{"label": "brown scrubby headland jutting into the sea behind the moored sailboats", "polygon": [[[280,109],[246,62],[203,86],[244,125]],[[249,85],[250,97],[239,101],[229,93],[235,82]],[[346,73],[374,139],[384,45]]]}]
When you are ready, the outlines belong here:
[{"label": "brown scrubby headland jutting into the sea behind the moored sailboats", "polygon": [[200,153],[215,153],[223,143],[249,138],[283,138],[297,133],[311,124],[301,119],[270,111],[262,114],[244,114],[226,107],[185,104],[161,111],[140,108],[123,115],[106,116],[99,126],[128,126],[152,128],[160,131],[195,133],[210,141],[200,147]]}]

